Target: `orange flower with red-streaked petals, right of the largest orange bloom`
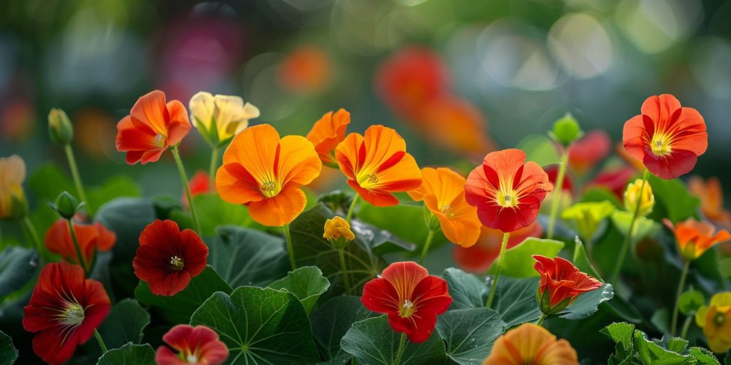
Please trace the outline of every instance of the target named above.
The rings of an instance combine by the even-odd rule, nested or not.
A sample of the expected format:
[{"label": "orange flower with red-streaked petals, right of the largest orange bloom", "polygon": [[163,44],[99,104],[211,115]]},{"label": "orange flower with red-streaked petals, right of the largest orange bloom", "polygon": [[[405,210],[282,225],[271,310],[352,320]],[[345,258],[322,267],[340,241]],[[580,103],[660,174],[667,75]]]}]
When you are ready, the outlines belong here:
[{"label": "orange flower with red-streaked petals, right of the largest orange bloom", "polygon": [[370,126],[366,134],[348,134],[335,150],[347,183],[363,200],[376,207],[398,204],[391,193],[421,185],[421,171],[406,142],[392,128]]}]

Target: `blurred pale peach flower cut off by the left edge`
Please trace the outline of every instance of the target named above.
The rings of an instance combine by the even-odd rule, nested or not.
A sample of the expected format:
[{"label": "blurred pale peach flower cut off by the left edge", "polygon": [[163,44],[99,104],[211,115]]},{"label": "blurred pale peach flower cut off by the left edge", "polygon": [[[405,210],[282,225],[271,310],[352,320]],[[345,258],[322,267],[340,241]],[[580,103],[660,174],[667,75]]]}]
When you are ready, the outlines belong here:
[{"label": "blurred pale peach flower cut off by the left edge", "polygon": [[26,213],[26,162],[18,155],[0,158],[0,219],[19,218]]}]

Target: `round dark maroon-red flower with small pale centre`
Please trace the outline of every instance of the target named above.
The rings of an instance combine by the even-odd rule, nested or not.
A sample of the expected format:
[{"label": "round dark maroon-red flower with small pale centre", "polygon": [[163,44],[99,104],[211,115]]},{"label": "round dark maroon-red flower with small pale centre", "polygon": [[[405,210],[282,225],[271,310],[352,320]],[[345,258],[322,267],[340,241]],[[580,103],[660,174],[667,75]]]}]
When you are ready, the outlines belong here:
[{"label": "round dark maroon-red flower with small pale centre", "polygon": [[173,220],[156,219],[140,234],[140,247],[132,260],[135,275],[158,296],[173,296],[205,269],[208,247],[190,230]]}]

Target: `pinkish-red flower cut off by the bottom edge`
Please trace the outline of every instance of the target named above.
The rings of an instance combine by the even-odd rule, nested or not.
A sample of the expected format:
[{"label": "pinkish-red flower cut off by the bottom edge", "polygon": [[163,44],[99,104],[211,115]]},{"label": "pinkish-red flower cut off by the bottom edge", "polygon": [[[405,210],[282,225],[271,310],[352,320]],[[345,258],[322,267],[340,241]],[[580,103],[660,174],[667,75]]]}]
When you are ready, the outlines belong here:
[{"label": "pinkish-red flower cut off by the bottom edge", "polygon": [[173,347],[157,347],[157,365],[219,365],[229,356],[228,347],[219,335],[206,326],[179,324],[170,328],[162,340]]}]

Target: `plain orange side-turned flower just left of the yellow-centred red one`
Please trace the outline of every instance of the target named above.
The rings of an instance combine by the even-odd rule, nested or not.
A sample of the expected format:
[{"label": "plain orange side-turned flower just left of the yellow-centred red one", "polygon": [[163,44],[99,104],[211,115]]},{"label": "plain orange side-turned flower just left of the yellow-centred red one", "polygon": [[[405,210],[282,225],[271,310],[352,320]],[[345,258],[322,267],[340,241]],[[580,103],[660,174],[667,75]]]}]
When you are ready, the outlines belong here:
[{"label": "plain orange side-turned flower just left of the yellow-centred red one", "polygon": [[444,236],[457,245],[469,247],[480,237],[477,209],[464,199],[462,175],[446,167],[421,169],[421,185],[409,191],[415,201],[424,201],[425,207],[439,220]]}]

